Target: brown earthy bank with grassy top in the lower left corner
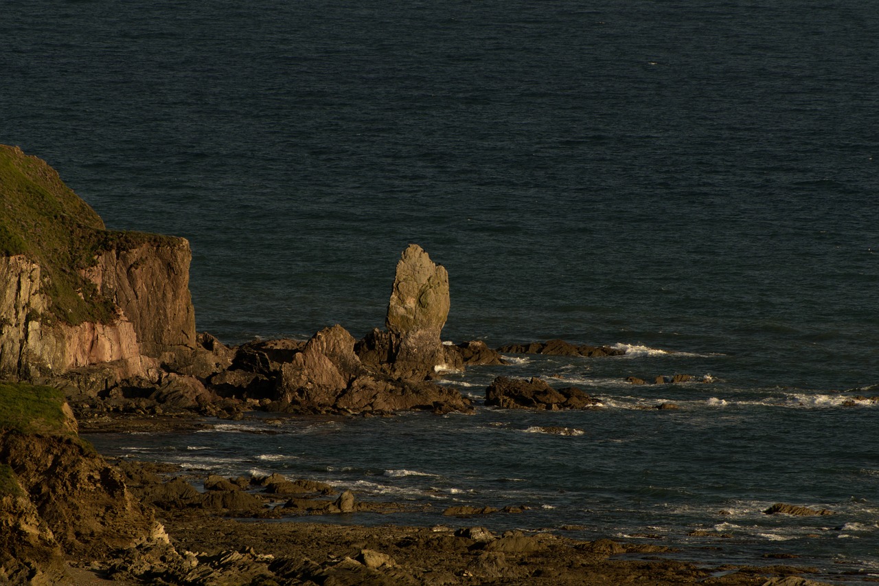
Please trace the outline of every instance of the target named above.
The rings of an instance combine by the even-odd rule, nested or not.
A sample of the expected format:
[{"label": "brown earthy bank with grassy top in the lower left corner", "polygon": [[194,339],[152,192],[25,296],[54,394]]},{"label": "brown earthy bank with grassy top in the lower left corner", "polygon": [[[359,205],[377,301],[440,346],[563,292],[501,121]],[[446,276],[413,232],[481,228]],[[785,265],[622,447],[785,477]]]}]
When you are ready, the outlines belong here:
[{"label": "brown earthy bank with grassy top in the lower left corner", "polygon": [[66,580],[62,556],[100,559],[156,530],[120,472],[76,436],[61,392],[0,385],[0,576]]}]

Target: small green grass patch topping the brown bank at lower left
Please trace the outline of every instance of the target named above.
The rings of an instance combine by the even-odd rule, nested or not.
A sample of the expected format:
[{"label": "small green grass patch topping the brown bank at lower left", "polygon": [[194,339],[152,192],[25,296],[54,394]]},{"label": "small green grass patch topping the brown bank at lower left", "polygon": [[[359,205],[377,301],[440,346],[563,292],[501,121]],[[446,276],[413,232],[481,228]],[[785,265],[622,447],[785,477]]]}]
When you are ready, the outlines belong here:
[{"label": "small green grass patch topping the brown bank at lower left", "polygon": [[50,386],[0,383],[0,430],[75,435],[65,426],[64,393]]}]

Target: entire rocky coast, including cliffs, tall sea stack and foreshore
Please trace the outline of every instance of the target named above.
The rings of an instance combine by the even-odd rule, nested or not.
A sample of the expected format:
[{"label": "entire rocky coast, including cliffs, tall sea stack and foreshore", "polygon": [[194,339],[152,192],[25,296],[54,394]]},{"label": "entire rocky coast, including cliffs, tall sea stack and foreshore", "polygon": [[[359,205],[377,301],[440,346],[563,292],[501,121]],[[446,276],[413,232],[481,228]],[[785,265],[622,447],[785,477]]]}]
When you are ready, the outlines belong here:
[{"label": "entire rocky coast, including cliffs, tall sea stack and foreshore", "polygon": [[[484,399],[475,399],[454,376],[503,369],[511,355],[610,360],[627,350],[561,340],[497,349],[478,340],[444,343],[450,277],[418,245],[403,251],[393,278],[389,267],[383,328],[360,340],[337,325],[309,340],[227,346],[195,331],[185,239],[106,231],[51,167],[15,147],[0,147],[0,179],[0,580],[807,586],[825,573],[788,563],[793,553],[712,565],[679,559],[672,539],[587,540],[571,537],[573,526],[483,526],[491,515],[521,515],[526,505],[448,506],[430,526],[361,524],[363,516],[422,505],[361,498],[356,487],[277,472],[224,477],[106,458],[80,434],[97,442],[97,435],[194,432],[254,418],[283,426],[411,412],[472,416],[486,407],[597,409],[602,399],[540,377],[493,377]],[[664,388],[711,384],[683,373],[621,376],[620,384],[645,380]],[[678,408],[671,401],[643,407]],[[830,512],[778,503],[766,515]]]}]

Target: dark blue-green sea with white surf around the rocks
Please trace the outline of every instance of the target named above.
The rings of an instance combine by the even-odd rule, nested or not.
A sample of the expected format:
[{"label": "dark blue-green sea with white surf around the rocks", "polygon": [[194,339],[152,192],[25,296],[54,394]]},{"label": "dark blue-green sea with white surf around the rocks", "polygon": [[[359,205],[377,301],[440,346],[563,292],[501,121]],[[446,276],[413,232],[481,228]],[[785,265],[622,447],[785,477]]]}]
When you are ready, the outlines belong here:
[{"label": "dark blue-green sea with white surf around the rocks", "polygon": [[[854,0],[4,6],[0,143],[109,228],[187,238],[200,331],[360,337],[416,243],[449,273],[444,340],[627,350],[448,373],[471,415],[89,439],[410,505],[325,522],[879,579],[877,32]],[[625,381],[675,374],[696,381]],[[600,407],[486,407],[498,375]],[[776,502],[834,514],[763,513]],[[442,516],[457,505],[527,509]]]}]

